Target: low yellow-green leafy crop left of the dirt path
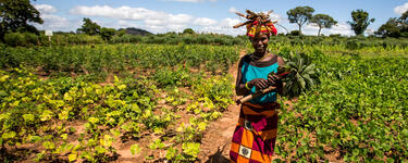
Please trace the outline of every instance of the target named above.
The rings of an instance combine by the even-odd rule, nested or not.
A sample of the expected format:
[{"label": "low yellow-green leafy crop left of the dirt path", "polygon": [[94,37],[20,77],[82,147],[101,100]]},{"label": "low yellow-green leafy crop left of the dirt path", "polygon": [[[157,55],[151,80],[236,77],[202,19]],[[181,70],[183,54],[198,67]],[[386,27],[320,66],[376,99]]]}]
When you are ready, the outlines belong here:
[{"label": "low yellow-green leafy crop left of the dirt path", "polygon": [[[116,155],[114,143],[149,133],[160,137],[148,148],[165,150],[166,160],[196,160],[207,124],[232,103],[231,78],[193,79],[186,100],[196,105],[187,110],[187,124],[174,123],[180,116],[176,106],[182,103],[170,110],[158,108],[162,90],[154,83],[145,77],[115,78],[113,86],[100,86],[71,77],[42,80],[24,68],[1,71],[1,150],[39,145],[40,152],[34,152],[37,161],[107,162]],[[84,130],[76,131],[76,123]],[[166,136],[174,130],[176,135]],[[131,150],[136,153],[140,148],[147,147],[135,145]],[[11,153],[5,161],[12,161]]]}]

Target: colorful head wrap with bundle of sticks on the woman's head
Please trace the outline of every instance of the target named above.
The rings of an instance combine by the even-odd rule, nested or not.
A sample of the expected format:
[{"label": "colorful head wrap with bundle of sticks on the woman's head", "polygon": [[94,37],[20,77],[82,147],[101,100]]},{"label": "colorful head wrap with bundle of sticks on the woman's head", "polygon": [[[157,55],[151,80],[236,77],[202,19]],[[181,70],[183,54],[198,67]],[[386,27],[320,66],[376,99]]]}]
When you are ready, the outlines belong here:
[{"label": "colorful head wrap with bundle of sticks on the woman's head", "polygon": [[247,27],[247,36],[255,37],[257,33],[264,33],[268,37],[272,34],[273,36],[277,34],[275,26],[273,25],[272,21],[269,18],[269,14],[272,11],[269,11],[267,14],[264,13],[254,13],[249,10],[246,11],[247,15],[242,13],[236,13],[239,16],[247,18],[248,21],[245,23],[240,23],[234,26],[234,28],[238,28],[240,26],[246,25]]}]

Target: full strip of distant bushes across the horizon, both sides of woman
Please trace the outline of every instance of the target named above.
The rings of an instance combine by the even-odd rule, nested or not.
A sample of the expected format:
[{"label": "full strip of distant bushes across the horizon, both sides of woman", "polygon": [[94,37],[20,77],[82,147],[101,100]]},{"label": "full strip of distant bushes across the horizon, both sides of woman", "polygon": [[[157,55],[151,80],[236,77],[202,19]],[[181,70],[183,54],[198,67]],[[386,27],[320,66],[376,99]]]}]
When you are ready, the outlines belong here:
[{"label": "full strip of distant bushes across the horizon, both sides of woman", "polygon": [[[104,40],[99,35],[89,36],[86,34],[55,33],[49,41],[48,36],[35,35],[30,33],[10,33],[4,37],[8,46],[30,47],[30,46],[71,46],[71,45],[94,45],[94,43],[165,43],[165,45],[214,45],[214,46],[233,46],[248,43],[247,36],[230,36],[218,34],[158,34],[158,35],[115,35],[110,40]],[[281,45],[305,45],[305,46],[345,46],[347,49],[360,49],[363,47],[401,47],[408,46],[407,38],[381,38],[381,37],[344,37],[341,35],[330,36],[305,36],[297,35],[296,32],[270,38],[271,43]]]}]

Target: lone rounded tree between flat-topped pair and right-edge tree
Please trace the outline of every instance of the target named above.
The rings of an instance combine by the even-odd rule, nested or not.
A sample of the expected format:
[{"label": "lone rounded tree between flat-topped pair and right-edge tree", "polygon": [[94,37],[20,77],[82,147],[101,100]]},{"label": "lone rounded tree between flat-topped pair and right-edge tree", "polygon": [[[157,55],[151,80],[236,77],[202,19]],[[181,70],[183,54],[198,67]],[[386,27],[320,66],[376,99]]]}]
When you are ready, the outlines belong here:
[{"label": "lone rounded tree between flat-topped pair and right-edge tree", "polygon": [[351,29],[355,32],[357,36],[363,35],[367,27],[375,21],[375,18],[369,18],[369,13],[359,9],[351,12],[353,22],[348,21],[350,24]]}]

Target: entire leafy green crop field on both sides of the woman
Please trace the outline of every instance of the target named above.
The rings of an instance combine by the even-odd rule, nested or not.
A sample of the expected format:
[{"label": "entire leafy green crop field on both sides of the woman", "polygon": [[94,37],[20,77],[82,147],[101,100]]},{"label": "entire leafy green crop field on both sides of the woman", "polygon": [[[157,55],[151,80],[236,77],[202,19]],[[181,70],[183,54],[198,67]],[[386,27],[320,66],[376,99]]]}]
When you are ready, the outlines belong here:
[{"label": "entire leafy green crop field on both sides of the woman", "polygon": [[[277,100],[274,162],[408,162],[407,47],[269,48],[306,53],[320,80]],[[235,105],[231,72],[245,52],[250,45],[0,46],[0,161],[206,162],[201,140]]]}]

